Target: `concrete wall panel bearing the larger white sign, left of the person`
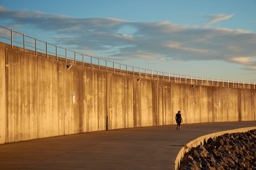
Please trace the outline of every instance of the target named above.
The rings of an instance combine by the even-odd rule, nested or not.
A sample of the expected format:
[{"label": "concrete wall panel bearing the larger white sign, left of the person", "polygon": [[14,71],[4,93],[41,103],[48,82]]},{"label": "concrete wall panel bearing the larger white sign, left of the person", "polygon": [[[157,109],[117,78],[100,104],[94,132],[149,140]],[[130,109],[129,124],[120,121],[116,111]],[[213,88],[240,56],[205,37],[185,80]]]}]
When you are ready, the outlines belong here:
[{"label": "concrete wall panel bearing the larger white sign, left of the person", "polygon": [[64,64],[65,135],[87,132],[86,69]]}]

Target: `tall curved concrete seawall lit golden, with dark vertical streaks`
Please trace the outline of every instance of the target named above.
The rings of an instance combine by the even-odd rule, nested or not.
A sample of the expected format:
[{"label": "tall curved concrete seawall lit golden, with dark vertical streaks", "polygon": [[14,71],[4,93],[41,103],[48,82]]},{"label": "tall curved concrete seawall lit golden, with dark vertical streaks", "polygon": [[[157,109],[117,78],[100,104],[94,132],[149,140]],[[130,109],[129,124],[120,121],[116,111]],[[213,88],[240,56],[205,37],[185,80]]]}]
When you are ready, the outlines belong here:
[{"label": "tall curved concrete seawall lit golden, with dark vertical streaks", "polygon": [[101,70],[0,43],[0,144],[171,125],[178,110],[184,124],[256,120],[252,88],[192,88]]}]

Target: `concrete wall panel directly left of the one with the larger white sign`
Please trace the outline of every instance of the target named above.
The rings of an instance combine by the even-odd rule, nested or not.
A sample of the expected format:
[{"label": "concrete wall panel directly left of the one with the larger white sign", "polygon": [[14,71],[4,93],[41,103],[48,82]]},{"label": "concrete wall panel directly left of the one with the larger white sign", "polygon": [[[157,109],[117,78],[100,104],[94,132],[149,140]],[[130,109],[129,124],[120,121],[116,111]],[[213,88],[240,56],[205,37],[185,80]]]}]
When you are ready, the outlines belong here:
[{"label": "concrete wall panel directly left of the one with the larger white sign", "polygon": [[63,64],[38,57],[38,138],[64,135]]}]

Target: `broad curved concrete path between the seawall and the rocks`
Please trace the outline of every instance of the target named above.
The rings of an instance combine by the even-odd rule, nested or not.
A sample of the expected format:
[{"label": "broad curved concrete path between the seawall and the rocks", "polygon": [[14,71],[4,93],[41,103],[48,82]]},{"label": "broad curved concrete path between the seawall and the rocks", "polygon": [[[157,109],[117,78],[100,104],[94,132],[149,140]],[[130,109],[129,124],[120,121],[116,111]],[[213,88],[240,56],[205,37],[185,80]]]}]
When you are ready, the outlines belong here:
[{"label": "broad curved concrete path between the seawall and the rocks", "polygon": [[88,132],[0,145],[0,170],[174,170],[183,145],[256,121]]}]

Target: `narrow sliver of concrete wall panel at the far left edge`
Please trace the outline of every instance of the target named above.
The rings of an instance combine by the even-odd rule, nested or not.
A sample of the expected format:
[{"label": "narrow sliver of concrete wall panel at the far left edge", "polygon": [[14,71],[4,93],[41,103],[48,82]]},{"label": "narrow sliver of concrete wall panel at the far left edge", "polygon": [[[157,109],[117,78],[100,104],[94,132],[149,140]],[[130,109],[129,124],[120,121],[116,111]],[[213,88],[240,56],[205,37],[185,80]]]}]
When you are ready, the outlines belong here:
[{"label": "narrow sliver of concrete wall panel at the far left edge", "polygon": [[4,46],[0,46],[0,80],[0,144],[4,144],[6,140],[6,92]]}]

